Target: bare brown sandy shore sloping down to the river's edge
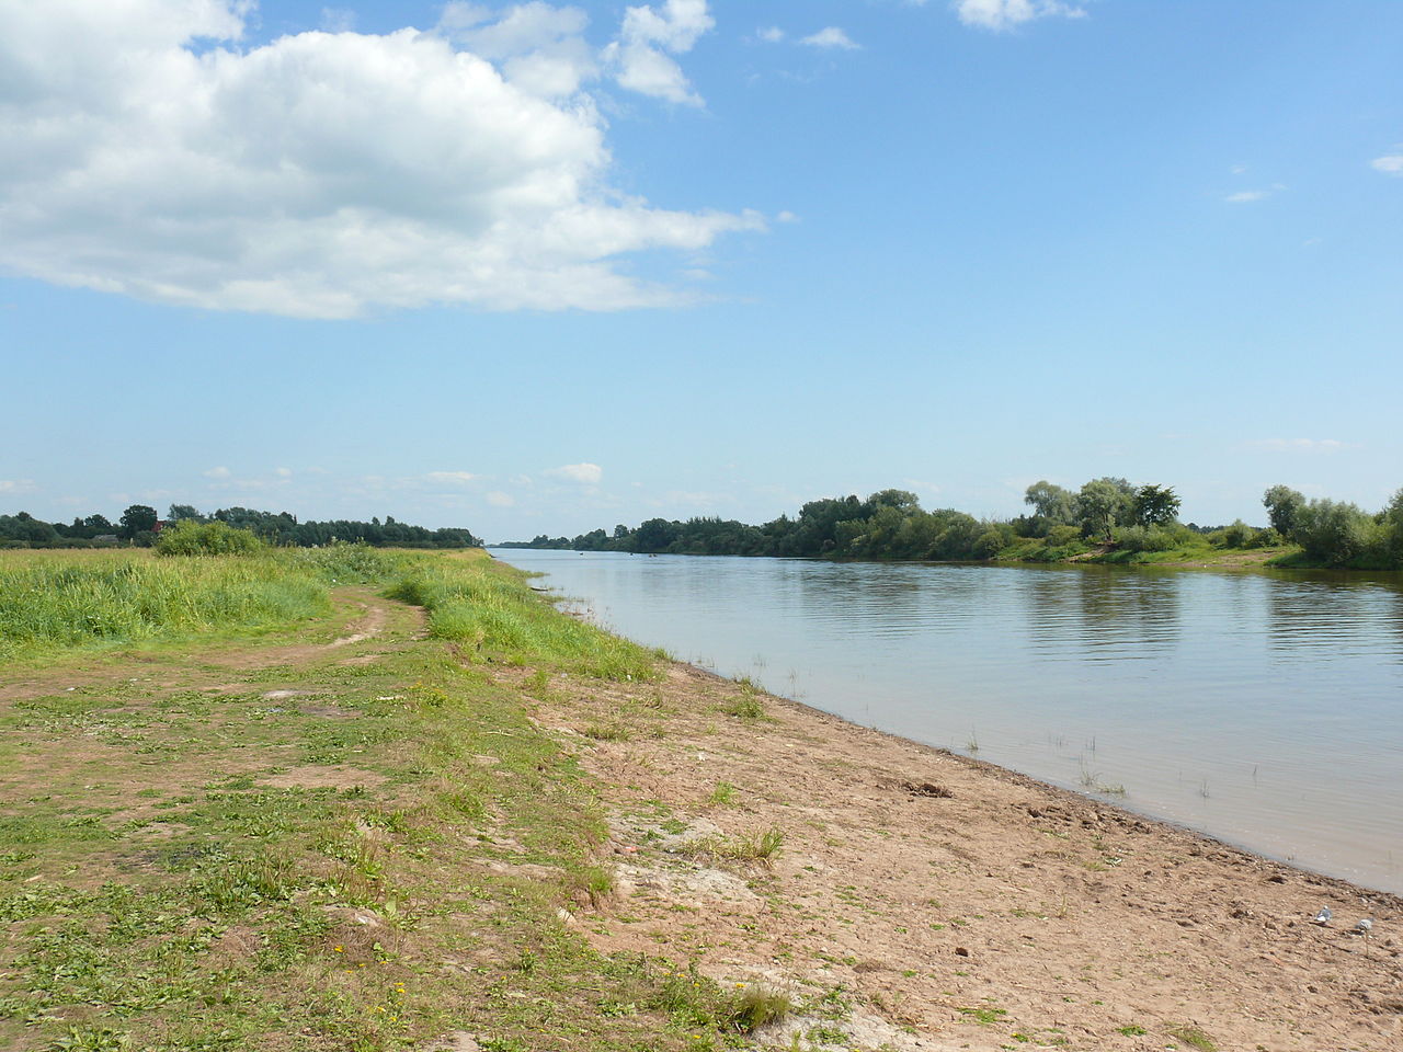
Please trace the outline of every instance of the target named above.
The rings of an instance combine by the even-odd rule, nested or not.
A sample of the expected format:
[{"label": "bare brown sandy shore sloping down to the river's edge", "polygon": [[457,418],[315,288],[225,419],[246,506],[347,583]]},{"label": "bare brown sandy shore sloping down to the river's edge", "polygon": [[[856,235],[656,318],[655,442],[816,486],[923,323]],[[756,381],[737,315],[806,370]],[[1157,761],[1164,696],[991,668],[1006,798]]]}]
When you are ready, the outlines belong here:
[{"label": "bare brown sandy shore sloping down to the river's edge", "polygon": [[535,694],[613,815],[615,893],[570,923],[790,992],[767,1045],[1403,1048],[1392,895],[686,665]]}]

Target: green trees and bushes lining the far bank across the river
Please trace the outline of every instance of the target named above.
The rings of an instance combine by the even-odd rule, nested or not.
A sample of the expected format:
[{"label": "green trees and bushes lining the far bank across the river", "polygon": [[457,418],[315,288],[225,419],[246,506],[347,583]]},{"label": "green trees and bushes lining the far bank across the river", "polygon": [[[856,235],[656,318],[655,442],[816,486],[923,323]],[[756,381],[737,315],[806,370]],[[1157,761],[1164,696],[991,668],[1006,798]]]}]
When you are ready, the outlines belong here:
[{"label": "green trees and bushes lining the far bank across the river", "polygon": [[578,537],[540,534],[508,548],[631,551],[680,555],[798,555],[884,560],[1055,561],[1097,548],[1160,553],[1177,548],[1258,548],[1299,544],[1296,562],[1330,567],[1403,568],[1403,491],[1382,512],[1352,504],[1308,501],[1287,487],[1267,491],[1271,525],[1254,527],[1180,523],[1172,487],[1093,478],[1072,491],[1040,481],[1024,494],[1030,513],[978,519],[950,508],[925,511],[915,494],[882,490],[867,499],[835,497],[805,504],[797,518],[762,526],[720,518],[686,522],[648,519]]}]

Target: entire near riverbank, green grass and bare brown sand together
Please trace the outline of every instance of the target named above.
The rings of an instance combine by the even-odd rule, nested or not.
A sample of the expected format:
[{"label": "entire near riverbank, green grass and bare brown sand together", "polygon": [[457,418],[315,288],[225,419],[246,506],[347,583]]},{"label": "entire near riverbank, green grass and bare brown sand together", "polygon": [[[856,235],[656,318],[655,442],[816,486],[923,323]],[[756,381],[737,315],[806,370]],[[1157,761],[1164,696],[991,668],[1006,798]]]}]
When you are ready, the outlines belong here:
[{"label": "entire near riverbank, green grass and bare brown sand together", "polygon": [[669,663],[481,551],[184,532],[0,553],[48,626],[0,661],[0,1048],[1089,1051],[1187,1000],[1221,1048],[1388,1044],[1388,955],[1289,922],[1360,888]]}]

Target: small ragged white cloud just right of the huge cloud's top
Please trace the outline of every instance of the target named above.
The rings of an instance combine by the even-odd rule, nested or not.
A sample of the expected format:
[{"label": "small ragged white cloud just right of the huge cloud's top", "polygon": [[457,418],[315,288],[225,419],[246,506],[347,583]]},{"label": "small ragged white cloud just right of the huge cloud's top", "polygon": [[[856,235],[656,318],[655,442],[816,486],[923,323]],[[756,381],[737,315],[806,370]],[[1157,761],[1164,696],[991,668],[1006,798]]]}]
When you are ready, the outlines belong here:
[{"label": "small ragged white cloud just right of the huge cloud's top", "polygon": [[666,0],[657,11],[650,4],[624,11],[619,39],[603,50],[605,65],[620,87],[669,102],[702,105],[682,67],[664,52],[682,55],[716,21],[706,0]]}]

